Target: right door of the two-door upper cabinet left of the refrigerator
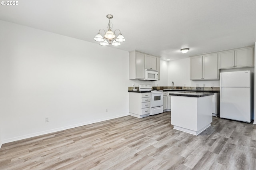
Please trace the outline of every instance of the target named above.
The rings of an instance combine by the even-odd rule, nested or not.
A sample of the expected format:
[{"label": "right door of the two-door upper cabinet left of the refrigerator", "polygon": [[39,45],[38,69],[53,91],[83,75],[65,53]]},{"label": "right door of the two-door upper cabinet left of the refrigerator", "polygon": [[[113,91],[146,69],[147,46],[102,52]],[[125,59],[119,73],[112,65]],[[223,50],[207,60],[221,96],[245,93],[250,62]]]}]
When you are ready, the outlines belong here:
[{"label": "right door of the two-door upper cabinet left of the refrigerator", "polygon": [[218,79],[218,53],[203,56],[203,79]]}]

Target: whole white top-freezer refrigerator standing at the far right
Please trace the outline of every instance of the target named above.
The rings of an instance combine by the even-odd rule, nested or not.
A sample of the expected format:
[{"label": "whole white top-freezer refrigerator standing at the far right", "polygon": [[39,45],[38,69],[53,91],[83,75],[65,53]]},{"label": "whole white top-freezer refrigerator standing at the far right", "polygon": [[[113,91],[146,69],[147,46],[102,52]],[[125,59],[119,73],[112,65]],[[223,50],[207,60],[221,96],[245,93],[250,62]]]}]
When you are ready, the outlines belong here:
[{"label": "whole white top-freezer refrigerator standing at the far right", "polygon": [[220,117],[250,123],[253,77],[250,71],[220,73]]}]

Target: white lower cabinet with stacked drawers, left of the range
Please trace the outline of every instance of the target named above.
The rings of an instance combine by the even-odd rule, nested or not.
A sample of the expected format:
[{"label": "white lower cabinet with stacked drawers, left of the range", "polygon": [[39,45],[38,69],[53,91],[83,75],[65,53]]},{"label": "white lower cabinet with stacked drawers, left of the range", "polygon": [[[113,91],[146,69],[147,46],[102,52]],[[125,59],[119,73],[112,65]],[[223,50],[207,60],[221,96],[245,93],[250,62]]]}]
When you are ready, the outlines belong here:
[{"label": "white lower cabinet with stacked drawers, left of the range", "polygon": [[142,118],[150,114],[151,93],[129,92],[129,113],[131,116]]}]

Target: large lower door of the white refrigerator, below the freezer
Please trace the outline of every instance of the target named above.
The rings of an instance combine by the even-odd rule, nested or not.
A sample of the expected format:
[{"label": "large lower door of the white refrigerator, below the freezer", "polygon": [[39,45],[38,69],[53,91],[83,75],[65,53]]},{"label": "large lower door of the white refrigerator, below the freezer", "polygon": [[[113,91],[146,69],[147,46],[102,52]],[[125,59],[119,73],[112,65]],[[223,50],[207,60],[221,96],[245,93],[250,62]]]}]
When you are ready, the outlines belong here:
[{"label": "large lower door of the white refrigerator, below the freezer", "polygon": [[251,122],[250,88],[220,87],[220,117]]}]

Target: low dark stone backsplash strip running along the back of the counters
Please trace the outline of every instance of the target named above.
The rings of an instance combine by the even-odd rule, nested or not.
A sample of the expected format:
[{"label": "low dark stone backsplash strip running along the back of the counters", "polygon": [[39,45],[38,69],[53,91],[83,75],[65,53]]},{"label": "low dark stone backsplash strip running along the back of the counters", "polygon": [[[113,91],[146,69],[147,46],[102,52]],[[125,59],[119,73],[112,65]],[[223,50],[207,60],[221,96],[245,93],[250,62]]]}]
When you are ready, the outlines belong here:
[{"label": "low dark stone backsplash strip running along the back of the counters", "polygon": [[[133,87],[128,87],[129,91],[132,91]],[[137,91],[139,91],[139,87],[135,87]],[[172,89],[171,86],[155,86],[152,87],[153,90],[163,90],[163,89]],[[180,87],[180,86],[175,86],[173,89],[181,89],[181,90],[220,90],[220,87]]]}]

